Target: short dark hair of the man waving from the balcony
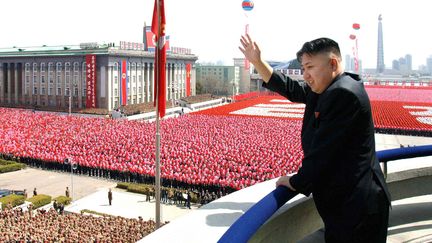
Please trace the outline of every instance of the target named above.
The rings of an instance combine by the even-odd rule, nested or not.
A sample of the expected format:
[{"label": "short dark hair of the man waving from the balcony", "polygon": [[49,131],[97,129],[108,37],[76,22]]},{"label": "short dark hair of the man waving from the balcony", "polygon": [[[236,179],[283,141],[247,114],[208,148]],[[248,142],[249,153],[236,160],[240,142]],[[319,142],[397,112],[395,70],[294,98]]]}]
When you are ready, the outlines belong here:
[{"label": "short dark hair of the man waving from the balcony", "polygon": [[316,55],[318,53],[334,53],[339,58],[342,58],[339,45],[336,41],[329,38],[318,38],[312,41],[305,42],[300,51],[297,52],[297,60],[301,63],[303,54]]}]

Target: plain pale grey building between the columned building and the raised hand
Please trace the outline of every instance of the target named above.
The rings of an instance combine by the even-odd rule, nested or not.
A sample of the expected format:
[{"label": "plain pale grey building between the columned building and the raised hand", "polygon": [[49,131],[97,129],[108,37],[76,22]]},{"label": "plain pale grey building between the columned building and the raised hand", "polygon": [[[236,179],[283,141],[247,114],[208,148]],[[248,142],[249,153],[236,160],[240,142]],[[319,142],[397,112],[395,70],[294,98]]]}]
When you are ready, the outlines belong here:
[{"label": "plain pale grey building between the columned building and the raised hand", "polygon": [[206,93],[233,95],[239,93],[240,67],[196,65],[196,81]]}]

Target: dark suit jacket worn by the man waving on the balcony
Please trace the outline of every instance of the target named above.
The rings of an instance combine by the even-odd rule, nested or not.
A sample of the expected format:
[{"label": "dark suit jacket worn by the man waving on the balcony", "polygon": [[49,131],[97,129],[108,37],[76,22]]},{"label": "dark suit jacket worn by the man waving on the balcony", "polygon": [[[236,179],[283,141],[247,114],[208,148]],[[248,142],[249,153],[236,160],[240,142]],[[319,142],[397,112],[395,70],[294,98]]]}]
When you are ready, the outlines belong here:
[{"label": "dark suit jacket worn by the man waving on the balcony", "polygon": [[382,191],[390,203],[375,152],[370,101],[358,75],[339,75],[319,95],[276,71],[263,86],[306,104],[304,158],[290,182],[298,192],[313,194],[326,228],[349,235],[362,216],[377,212]]}]

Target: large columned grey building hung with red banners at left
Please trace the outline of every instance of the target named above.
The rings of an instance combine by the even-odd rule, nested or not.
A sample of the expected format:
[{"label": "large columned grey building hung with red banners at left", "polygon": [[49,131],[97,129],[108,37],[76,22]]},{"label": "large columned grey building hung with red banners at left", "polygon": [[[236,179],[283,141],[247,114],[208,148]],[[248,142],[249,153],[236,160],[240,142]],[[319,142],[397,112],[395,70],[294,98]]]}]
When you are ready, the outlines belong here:
[{"label": "large columned grey building hung with red banners at left", "polygon": [[[122,44],[0,49],[0,105],[67,108],[70,96],[73,108],[112,110],[122,95],[127,104],[152,102],[154,53]],[[195,94],[196,60],[167,54],[167,100],[185,97],[187,86]]]}]

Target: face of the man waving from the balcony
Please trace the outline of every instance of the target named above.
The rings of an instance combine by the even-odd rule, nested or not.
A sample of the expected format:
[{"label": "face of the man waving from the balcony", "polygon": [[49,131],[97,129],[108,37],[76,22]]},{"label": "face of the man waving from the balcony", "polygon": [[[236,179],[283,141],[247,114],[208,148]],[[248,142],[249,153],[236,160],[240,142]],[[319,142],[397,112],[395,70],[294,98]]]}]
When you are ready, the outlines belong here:
[{"label": "face of the man waving from the balcony", "polygon": [[333,80],[334,59],[326,53],[316,55],[303,54],[302,56],[303,78],[312,91],[321,94]]}]

